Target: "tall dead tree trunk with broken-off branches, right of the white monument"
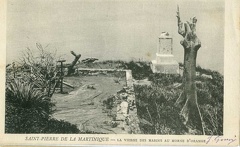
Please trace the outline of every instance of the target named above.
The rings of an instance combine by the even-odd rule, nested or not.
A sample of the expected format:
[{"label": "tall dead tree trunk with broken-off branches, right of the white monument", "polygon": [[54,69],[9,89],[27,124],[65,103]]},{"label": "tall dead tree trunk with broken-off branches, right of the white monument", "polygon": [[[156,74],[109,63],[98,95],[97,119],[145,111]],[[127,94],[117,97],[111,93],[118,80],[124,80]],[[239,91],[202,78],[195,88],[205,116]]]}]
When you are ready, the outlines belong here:
[{"label": "tall dead tree trunk with broken-off branches, right of the white monument", "polygon": [[180,43],[184,48],[184,71],[183,93],[176,101],[176,105],[182,107],[180,114],[185,118],[185,124],[189,131],[195,131],[195,134],[204,134],[195,85],[196,58],[198,49],[201,47],[201,42],[196,35],[197,19],[193,17],[190,22],[182,23],[178,8],[177,20],[178,33],[183,36]]}]

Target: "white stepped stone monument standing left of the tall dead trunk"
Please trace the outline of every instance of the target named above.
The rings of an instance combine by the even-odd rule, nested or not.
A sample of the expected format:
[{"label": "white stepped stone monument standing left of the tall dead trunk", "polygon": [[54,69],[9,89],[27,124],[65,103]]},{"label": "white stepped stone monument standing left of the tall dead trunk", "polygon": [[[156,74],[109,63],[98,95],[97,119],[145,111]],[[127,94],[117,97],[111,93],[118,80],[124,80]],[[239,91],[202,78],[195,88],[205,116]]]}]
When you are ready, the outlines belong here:
[{"label": "white stepped stone monument standing left of the tall dead trunk", "polygon": [[152,60],[153,73],[179,74],[179,65],[174,60],[172,37],[167,32],[162,32],[159,37],[159,46],[156,60]]}]

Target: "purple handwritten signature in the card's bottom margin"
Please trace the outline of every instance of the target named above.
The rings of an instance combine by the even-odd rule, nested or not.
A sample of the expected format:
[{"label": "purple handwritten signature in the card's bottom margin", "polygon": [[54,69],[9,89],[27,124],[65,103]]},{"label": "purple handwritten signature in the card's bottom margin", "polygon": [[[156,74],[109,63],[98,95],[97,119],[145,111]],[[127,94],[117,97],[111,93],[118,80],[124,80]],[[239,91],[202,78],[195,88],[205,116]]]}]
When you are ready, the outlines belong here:
[{"label": "purple handwritten signature in the card's bottom margin", "polygon": [[230,145],[236,140],[237,140],[236,135],[233,138],[226,138],[224,136],[209,136],[206,139],[206,144],[208,144],[209,142],[214,142],[214,143],[226,142],[228,145]]}]

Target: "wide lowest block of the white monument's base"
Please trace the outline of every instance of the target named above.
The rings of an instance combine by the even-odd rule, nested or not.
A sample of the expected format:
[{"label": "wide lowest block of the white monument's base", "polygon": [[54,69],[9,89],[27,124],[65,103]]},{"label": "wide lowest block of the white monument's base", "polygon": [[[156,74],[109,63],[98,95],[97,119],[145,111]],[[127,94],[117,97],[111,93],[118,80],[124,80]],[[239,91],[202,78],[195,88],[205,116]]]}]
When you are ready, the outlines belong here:
[{"label": "wide lowest block of the white monument's base", "polygon": [[156,60],[153,60],[151,69],[153,73],[179,74],[179,65],[177,62],[157,63]]}]

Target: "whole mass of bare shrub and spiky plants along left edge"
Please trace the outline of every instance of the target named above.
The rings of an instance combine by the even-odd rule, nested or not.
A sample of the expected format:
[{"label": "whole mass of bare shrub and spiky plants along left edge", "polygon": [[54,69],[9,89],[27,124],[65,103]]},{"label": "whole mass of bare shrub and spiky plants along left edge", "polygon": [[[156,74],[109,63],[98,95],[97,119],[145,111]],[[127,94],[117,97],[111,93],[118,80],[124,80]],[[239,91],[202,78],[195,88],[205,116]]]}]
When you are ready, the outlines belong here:
[{"label": "whole mass of bare shrub and spiky plants along left edge", "polygon": [[[58,71],[54,54],[36,44],[39,54],[28,49],[17,74],[7,70],[6,133],[80,133],[76,125],[51,117]],[[32,69],[31,71],[29,71]],[[14,76],[12,76],[14,72]]]}]

